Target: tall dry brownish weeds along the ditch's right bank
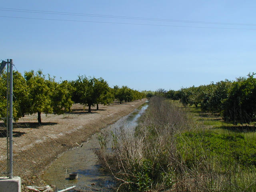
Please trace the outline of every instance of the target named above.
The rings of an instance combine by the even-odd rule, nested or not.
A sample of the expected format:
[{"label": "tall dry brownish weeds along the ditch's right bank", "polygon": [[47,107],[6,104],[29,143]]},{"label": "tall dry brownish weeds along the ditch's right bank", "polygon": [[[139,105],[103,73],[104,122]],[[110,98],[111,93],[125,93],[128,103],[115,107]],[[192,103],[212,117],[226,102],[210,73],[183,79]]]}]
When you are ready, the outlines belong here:
[{"label": "tall dry brownish weeds along the ditch's right bank", "polygon": [[162,190],[174,183],[176,139],[180,131],[196,126],[187,113],[161,97],[150,100],[150,106],[135,131],[122,127],[114,134],[112,150],[97,152],[102,164],[126,190]]}]

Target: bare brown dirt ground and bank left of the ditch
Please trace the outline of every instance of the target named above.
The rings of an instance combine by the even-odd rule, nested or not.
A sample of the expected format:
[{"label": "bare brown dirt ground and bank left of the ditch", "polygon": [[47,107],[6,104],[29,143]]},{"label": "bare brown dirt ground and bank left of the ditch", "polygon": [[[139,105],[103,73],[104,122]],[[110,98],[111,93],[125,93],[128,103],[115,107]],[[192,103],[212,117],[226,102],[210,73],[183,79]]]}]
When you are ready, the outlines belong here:
[{"label": "bare brown dirt ground and bank left of the ditch", "polygon": [[[92,113],[75,104],[71,113],[42,114],[41,125],[37,123],[36,114],[21,118],[18,123],[14,123],[13,129],[14,176],[20,176],[25,185],[42,184],[40,175],[59,154],[86,142],[92,134],[129,114],[145,101],[99,105],[99,110],[92,108]],[[5,176],[6,129],[2,122],[0,125],[0,176]]]}]

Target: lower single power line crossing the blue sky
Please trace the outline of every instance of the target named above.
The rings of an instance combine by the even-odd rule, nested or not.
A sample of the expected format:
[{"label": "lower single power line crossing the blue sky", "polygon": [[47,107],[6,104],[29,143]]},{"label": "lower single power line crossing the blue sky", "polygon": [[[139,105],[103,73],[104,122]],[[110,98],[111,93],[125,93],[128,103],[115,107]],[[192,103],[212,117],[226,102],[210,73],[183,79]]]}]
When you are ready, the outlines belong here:
[{"label": "lower single power line crossing the blue sky", "polygon": [[66,20],[66,19],[47,19],[47,18],[14,17],[14,16],[0,16],[0,17],[4,17],[4,18],[19,18],[19,19],[33,19],[33,20],[52,20],[52,21],[69,21],[69,22],[88,22],[88,23],[106,23],[106,24],[140,25],[140,26],[162,26],[162,27],[181,27],[181,28],[208,28],[208,29],[256,30],[256,28],[224,28],[224,27],[202,27],[202,26],[179,26],[179,25],[160,25],[160,24],[123,23],[123,22],[102,22],[102,21]]}]

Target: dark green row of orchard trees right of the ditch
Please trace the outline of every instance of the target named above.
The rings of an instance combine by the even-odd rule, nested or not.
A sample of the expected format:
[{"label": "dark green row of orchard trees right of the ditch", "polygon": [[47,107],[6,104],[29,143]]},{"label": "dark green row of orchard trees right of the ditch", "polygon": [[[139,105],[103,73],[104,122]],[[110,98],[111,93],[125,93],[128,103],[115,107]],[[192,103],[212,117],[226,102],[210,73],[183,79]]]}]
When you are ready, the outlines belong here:
[{"label": "dark green row of orchard trees right of the ditch", "polygon": [[180,90],[158,89],[144,91],[147,97],[161,95],[172,100],[180,100],[184,106],[195,105],[202,112],[217,113],[233,124],[256,121],[256,78],[255,74],[223,80],[208,85],[192,86]]}]

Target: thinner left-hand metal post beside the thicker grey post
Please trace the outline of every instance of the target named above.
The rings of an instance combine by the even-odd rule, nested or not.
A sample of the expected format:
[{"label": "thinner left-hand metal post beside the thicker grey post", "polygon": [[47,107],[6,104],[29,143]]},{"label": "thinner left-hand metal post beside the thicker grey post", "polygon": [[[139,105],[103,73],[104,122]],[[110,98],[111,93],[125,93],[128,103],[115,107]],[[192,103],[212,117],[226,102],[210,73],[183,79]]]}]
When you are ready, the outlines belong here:
[{"label": "thinner left-hand metal post beside the thicker grey post", "polygon": [[6,73],[6,84],[7,84],[7,92],[6,92],[6,176],[9,176],[9,59],[7,60],[7,73]]}]

